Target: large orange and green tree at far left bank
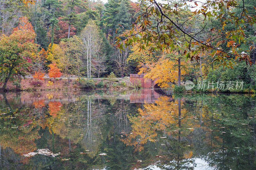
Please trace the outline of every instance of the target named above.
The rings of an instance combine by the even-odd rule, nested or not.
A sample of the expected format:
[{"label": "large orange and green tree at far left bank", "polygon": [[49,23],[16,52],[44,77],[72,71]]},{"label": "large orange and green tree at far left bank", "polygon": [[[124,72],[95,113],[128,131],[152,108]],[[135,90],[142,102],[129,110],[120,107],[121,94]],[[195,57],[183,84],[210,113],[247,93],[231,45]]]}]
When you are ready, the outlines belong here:
[{"label": "large orange and green tree at far left bank", "polygon": [[27,75],[38,50],[36,37],[28,18],[20,18],[19,25],[10,36],[0,35],[0,74],[5,89],[8,80],[20,79]]}]

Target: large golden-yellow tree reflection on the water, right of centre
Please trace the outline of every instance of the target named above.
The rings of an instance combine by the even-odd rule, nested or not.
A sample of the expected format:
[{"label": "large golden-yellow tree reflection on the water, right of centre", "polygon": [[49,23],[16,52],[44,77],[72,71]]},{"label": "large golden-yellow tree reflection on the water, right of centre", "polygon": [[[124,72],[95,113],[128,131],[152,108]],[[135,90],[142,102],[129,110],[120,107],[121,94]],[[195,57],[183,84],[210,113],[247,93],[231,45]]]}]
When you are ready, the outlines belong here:
[{"label": "large golden-yellow tree reflection on the water, right of centre", "polygon": [[[168,100],[169,97],[161,96],[156,103],[144,104],[144,109],[138,109],[138,117],[129,117],[132,131],[121,140],[126,145],[133,145],[134,152],[143,150],[143,145],[148,141],[158,141],[157,131],[162,131],[164,136],[178,137],[189,134],[199,126],[193,119],[194,116],[187,114],[186,109],[181,107],[179,112],[178,100],[172,102]],[[180,100],[180,102],[182,105],[184,101]]]}]

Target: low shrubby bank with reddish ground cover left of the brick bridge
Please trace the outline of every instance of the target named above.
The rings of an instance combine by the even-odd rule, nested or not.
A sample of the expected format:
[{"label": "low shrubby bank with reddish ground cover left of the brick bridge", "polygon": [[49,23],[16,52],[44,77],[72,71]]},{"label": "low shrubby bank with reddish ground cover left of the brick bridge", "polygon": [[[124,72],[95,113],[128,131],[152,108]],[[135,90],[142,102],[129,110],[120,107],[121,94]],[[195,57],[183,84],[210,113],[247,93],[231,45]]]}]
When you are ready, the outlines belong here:
[{"label": "low shrubby bank with reddish ground cover left of the brick bridge", "polygon": [[88,89],[140,89],[140,82],[132,83],[129,77],[122,79],[116,78],[114,74],[110,74],[108,78],[88,79],[81,77],[80,79],[67,79],[62,78],[44,78],[38,80],[34,78],[21,79],[20,82],[8,83],[5,91],[76,91]]}]

